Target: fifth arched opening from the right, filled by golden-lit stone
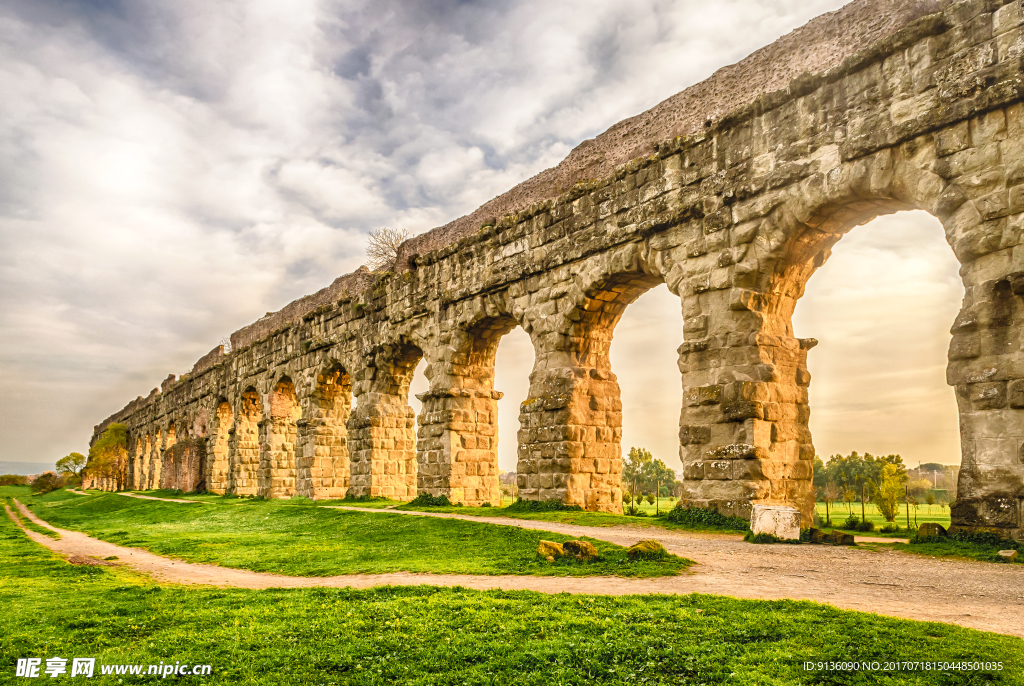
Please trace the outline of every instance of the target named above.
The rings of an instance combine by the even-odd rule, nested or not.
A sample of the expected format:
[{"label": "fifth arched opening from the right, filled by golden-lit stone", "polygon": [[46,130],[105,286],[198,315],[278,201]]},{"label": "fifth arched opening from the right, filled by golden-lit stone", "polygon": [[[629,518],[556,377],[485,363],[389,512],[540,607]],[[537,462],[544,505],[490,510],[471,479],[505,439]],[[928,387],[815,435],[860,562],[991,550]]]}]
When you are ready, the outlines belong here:
[{"label": "fifth arched opening from the right, filled by golden-lit stone", "polygon": [[345,369],[329,365],[316,376],[309,414],[299,422],[299,496],[344,498],[349,486],[347,422],[352,408],[352,383]]}]

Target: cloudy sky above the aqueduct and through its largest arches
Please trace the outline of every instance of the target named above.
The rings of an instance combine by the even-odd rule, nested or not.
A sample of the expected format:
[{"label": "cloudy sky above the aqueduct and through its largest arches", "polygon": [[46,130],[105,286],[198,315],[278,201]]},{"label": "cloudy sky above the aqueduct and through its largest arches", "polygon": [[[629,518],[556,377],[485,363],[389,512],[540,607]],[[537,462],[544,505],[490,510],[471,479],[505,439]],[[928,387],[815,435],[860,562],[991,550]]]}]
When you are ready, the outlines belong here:
[{"label": "cloudy sky above the aqueduct and through its largest arches", "polygon": [[[0,461],[97,421],[223,337],[843,3],[0,3]],[[943,384],[962,291],[941,230],[858,229],[798,310],[819,453],[958,455]],[[679,306],[613,347],[626,438],[678,466]],[[532,360],[503,343],[502,462]],[[895,346],[895,347],[894,347]],[[511,440],[510,440],[511,439]]]}]

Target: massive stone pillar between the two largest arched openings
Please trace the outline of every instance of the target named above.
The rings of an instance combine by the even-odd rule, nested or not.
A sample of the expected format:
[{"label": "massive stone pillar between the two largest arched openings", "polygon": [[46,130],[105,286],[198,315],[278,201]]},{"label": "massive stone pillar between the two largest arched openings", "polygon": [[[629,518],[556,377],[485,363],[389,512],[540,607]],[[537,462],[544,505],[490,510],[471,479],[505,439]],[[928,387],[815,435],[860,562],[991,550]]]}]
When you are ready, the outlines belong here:
[{"label": "massive stone pillar between the two largest arched openings", "polygon": [[[683,501],[749,519],[751,506],[790,505],[813,518],[814,446],[807,351],[817,342],[778,331],[729,292],[688,305],[683,373]],[[786,321],[788,317],[785,317]]]}]

